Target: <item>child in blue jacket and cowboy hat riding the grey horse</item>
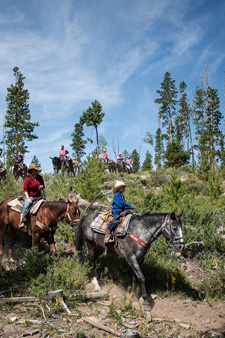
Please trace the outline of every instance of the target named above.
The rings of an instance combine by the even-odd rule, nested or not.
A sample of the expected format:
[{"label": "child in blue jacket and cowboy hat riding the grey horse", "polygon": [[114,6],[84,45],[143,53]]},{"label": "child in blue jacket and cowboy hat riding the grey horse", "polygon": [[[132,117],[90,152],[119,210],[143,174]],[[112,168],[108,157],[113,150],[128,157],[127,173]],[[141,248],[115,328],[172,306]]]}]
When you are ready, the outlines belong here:
[{"label": "child in blue jacket and cowboy hat riding the grey horse", "polygon": [[104,242],[107,243],[111,237],[111,232],[116,228],[120,214],[125,209],[133,209],[132,205],[127,204],[124,198],[124,191],[127,185],[122,181],[117,181],[115,187],[113,189],[114,197],[112,202],[112,213],[113,213],[113,220],[109,223],[106,231],[105,231],[105,240]]}]

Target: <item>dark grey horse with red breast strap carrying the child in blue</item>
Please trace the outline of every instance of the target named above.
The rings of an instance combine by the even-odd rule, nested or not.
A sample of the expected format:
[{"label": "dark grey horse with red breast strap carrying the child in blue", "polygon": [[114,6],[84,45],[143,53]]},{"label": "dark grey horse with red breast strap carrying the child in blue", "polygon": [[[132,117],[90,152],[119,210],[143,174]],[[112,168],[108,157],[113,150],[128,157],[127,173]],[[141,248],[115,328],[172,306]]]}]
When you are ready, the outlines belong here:
[{"label": "dark grey horse with red breast strap carrying the child in blue", "polygon": [[[84,216],[78,226],[76,235],[76,249],[79,251],[79,258],[82,260],[82,246],[84,239],[87,242],[90,265],[93,268],[94,276],[97,278],[96,260],[105,251],[104,235],[96,233],[90,224],[99,213]],[[184,246],[182,236],[182,225],[180,216],[182,213],[149,214],[143,216],[132,216],[125,237],[117,237],[117,245],[107,244],[108,253],[113,256],[120,256],[126,259],[133,270],[132,294],[136,297],[136,286],[139,282],[141,287],[144,305],[150,309],[153,307],[153,299],[147,295],[145,288],[145,277],[141,271],[151,243],[161,234],[166,237],[176,250],[181,251]]]}]

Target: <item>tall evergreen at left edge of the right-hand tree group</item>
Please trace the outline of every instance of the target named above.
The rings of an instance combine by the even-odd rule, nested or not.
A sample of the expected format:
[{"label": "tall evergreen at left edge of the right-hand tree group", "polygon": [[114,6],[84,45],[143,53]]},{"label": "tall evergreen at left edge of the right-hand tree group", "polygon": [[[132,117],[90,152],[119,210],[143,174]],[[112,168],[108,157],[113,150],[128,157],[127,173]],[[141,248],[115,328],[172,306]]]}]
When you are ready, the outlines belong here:
[{"label": "tall evergreen at left edge of the right-hand tree group", "polygon": [[170,73],[165,73],[163,82],[161,83],[161,90],[157,90],[156,92],[160,96],[160,98],[155,99],[155,103],[160,104],[159,117],[162,119],[162,126],[166,127],[166,138],[169,138],[170,142],[172,142],[173,116],[176,113],[177,89],[175,87],[175,80],[172,80]]}]

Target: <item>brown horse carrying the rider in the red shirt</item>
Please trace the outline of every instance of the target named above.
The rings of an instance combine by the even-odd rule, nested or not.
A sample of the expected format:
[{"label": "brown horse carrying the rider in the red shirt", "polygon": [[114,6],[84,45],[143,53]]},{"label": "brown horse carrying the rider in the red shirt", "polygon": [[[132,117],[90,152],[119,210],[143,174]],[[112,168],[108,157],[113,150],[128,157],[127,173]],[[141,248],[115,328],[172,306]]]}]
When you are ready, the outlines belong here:
[{"label": "brown horse carrying the rider in the red shirt", "polygon": [[[3,256],[3,238],[6,230],[10,228],[10,236],[8,242],[8,256],[12,259],[12,246],[15,241],[16,231],[21,231],[28,234],[27,228],[20,228],[20,213],[13,211],[8,206],[8,202],[13,198],[6,200],[0,204],[0,260]],[[80,210],[78,208],[78,201],[44,201],[38,210],[37,214],[30,216],[30,230],[32,235],[33,245],[39,251],[40,239],[44,238],[53,255],[56,254],[56,247],[54,241],[54,234],[57,229],[57,223],[65,218],[70,225],[76,225],[80,221]]]}]

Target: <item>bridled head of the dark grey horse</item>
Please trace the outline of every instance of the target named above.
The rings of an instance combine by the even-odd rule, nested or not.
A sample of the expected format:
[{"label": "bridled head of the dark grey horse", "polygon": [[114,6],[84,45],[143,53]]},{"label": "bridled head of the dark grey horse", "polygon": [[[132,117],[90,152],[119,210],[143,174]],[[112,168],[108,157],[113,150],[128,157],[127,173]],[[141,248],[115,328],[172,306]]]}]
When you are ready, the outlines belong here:
[{"label": "bridled head of the dark grey horse", "polygon": [[184,239],[182,234],[181,213],[168,214],[162,226],[163,236],[170,241],[175,250],[181,252],[184,248]]}]

